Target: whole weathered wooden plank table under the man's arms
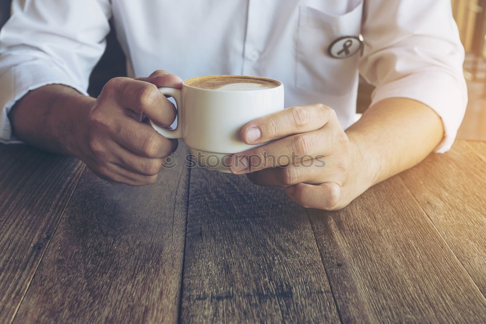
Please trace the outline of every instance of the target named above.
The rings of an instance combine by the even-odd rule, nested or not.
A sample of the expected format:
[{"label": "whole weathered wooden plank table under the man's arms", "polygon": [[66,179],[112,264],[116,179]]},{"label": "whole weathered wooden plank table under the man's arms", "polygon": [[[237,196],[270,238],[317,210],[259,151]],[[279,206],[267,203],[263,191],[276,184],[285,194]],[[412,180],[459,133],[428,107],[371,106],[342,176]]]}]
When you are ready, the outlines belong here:
[{"label": "whole weathered wooden plank table under the man's arms", "polygon": [[0,145],[0,323],[484,323],[485,142],[337,212],[183,164],[112,186]]}]

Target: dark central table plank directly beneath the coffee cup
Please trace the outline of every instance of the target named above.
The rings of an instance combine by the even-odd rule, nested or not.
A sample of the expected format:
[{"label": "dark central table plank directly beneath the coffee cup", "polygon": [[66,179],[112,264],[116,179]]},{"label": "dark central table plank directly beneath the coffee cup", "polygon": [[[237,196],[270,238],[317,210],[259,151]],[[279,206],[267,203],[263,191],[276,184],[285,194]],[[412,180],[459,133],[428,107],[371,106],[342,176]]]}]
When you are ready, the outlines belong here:
[{"label": "dark central table plank directly beneath the coffee cup", "polygon": [[191,170],[181,322],[339,322],[309,219],[281,188]]}]

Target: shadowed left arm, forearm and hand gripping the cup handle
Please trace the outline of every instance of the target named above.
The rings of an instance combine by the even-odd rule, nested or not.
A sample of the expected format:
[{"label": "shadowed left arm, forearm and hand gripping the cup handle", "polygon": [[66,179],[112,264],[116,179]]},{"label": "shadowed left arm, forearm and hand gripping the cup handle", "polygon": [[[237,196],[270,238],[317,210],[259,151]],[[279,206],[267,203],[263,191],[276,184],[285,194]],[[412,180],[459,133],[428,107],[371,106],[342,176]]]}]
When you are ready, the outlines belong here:
[{"label": "shadowed left arm, forearm and hand gripping the cup handle", "polygon": [[157,88],[181,88],[182,80],[165,71],[147,78],[114,78],[98,99],[64,85],[30,91],[9,118],[20,140],[47,151],[74,155],[111,183],[154,182],[164,158],[177,146],[151,126],[169,126],[174,105]]}]

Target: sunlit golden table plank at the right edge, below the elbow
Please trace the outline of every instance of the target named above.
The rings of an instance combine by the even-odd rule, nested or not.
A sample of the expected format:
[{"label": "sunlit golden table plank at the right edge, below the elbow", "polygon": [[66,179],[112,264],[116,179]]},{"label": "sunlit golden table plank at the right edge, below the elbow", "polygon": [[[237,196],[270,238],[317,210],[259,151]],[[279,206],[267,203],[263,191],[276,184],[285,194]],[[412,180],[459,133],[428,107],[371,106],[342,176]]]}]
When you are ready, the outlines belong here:
[{"label": "sunlit golden table plank at the right edge, below the elbow", "polygon": [[[486,155],[486,144],[471,145]],[[457,141],[448,153],[433,154],[400,177],[486,294],[486,159]]]}]

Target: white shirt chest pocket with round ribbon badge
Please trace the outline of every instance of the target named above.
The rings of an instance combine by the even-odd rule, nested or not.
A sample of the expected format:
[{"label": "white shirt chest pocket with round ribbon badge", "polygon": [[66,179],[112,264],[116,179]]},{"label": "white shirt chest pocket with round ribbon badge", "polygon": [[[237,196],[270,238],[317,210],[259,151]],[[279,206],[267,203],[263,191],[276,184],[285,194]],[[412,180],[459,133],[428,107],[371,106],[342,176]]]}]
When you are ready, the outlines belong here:
[{"label": "white shirt chest pocket with round ribbon badge", "polygon": [[[351,41],[359,45],[363,14],[363,0],[343,15],[331,15],[310,6],[301,6],[299,11],[295,85],[297,88],[323,94],[345,95],[357,80],[357,67],[361,50],[347,56]],[[337,41],[336,41],[337,40]],[[335,58],[329,53],[343,57]],[[342,48],[341,48],[342,47]]]}]

